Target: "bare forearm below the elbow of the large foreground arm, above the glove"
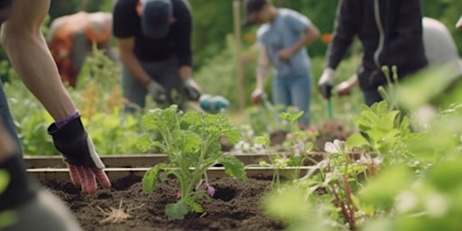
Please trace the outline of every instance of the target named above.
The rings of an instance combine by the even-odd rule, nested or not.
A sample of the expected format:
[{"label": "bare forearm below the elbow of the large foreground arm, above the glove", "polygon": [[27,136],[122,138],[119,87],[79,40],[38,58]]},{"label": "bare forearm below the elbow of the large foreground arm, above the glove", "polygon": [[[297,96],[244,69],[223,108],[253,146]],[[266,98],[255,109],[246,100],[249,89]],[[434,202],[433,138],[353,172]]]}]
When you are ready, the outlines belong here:
[{"label": "bare forearm below the elbow of the large foreground arm, above the glove", "polygon": [[56,64],[38,28],[36,31],[17,30],[14,20],[7,21],[2,42],[24,85],[54,120],[62,120],[77,110],[62,85]]}]

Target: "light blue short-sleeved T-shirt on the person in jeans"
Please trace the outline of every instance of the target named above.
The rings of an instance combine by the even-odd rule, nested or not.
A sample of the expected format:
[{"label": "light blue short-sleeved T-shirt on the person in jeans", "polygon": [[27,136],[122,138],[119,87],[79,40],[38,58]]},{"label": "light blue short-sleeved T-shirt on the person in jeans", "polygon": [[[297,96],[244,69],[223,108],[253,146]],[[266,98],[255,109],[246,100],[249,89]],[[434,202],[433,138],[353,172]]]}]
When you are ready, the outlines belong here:
[{"label": "light blue short-sleeved T-shirt on the person in jeans", "polygon": [[306,49],[297,51],[290,60],[278,58],[278,51],[298,42],[311,21],[303,14],[291,9],[280,8],[271,23],[263,23],[257,31],[257,40],[266,46],[268,58],[277,76],[305,73],[310,69],[310,56]]}]

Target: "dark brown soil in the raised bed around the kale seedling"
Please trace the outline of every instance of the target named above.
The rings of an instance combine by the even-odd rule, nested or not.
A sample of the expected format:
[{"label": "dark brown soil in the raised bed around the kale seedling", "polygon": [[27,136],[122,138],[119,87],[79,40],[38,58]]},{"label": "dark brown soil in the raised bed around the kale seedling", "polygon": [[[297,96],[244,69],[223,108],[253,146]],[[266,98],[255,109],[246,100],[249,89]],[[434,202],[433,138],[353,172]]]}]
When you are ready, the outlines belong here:
[{"label": "dark brown soil in the raised bed around the kale seedling", "polygon": [[[270,180],[249,179],[247,182],[222,178],[209,180],[215,187],[212,199],[199,204],[202,214],[190,213],[183,220],[169,220],[164,214],[167,204],[176,201],[176,180],[167,180],[152,194],[143,192],[140,177],[127,177],[113,182],[113,189],[100,189],[96,195],[80,193],[70,181],[42,182],[64,200],[85,230],[283,230],[282,222],[263,214],[260,201],[271,189]],[[104,223],[107,216],[98,208],[125,208],[131,217],[120,223]]]}]

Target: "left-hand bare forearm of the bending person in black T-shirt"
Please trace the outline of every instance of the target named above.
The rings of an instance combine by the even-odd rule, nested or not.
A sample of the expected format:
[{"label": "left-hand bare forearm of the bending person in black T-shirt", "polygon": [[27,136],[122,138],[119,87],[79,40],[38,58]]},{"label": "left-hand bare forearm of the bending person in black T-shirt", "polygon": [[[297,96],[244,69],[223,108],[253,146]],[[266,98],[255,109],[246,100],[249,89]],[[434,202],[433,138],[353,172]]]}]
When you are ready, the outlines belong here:
[{"label": "left-hand bare forearm of the bending person in black T-shirt", "polygon": [[140,61],[134,56],[134,37],[127,39],[118,39],[120,60],[124,63],[125,68],[132,73],[134,78],[147,86],[152,80],[149,74],[143,69]]}]

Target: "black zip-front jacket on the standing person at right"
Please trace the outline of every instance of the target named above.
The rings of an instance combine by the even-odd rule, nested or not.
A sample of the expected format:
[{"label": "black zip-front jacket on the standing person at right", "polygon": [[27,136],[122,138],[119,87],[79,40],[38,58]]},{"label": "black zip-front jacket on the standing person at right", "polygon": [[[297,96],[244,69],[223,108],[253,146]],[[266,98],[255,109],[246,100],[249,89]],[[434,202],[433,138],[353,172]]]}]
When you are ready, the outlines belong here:
[{"label": "black zip-front jacket on the standing person at right", "polygon": [[382,66],[398,68],[401,78],[425,67],[420,0],[340,0],[328,67],[336,69],[357,35],[363,46],[358,69],[362,90],[387,83]]}]

